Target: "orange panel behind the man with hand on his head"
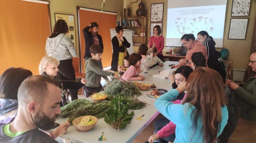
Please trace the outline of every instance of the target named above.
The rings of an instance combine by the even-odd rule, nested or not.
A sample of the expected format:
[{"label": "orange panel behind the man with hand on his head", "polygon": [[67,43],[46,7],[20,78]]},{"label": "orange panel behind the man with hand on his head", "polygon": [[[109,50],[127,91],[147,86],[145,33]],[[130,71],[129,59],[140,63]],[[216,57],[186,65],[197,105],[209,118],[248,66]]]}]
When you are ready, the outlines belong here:
[{"label": "orange panel behind the man with hand on his head", "polygon": [[116,15],[106,14],[100,12],[92,12],[86,10],[79,10],[79,24],[80,24],[80,43],[81,43],[81,58],[82,58],[82,69],[85,72],[85,40],[83,29],[88,26],[91,22],[97,22],[99,24],[99,34],[103,40],[103,54],[102,54],[102,65],[108,67],[111,65],[112,60],[112,44],[110,38],[110,29],[116,27]]}]

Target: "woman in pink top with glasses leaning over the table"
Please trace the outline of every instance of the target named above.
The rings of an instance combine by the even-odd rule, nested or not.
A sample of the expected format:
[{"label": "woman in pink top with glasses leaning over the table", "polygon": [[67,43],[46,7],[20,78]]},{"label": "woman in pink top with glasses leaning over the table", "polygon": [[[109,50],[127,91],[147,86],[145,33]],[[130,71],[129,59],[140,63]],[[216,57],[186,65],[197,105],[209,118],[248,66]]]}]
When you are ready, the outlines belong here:
[{"label": "woman in pink top with glasses leaning over the table", "polygon": [[195,40],[195,36],[193,34],[191,33],[184,34],[181,37],[181,42],[182,42],[182,45],[188,49],[187,54],[184,59],[179,60],[180,63],[178,65],[171,66],[171,69],[181,67],[184,65],[191,67],[191,56],[193,53],[196,53],[196,52],[202,52],[207,64],[207,50],[201,42],[199,42],[198,40]]}]

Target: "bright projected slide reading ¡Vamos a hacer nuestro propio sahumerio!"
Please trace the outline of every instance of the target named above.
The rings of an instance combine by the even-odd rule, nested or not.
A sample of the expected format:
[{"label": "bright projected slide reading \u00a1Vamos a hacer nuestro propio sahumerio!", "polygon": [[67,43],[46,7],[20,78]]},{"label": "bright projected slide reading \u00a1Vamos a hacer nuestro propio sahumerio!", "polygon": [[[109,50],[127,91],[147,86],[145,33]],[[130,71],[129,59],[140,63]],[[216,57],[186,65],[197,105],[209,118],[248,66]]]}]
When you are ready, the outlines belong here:
[{"label": "bright projected slide reading \u00a1Vamos a hacer nuestro propio sahumerio!", "polygon": [[168,8],[166,45],[180,46],[177,40],[184,34],[196,37],[202,30],[214,39],[223,39],[225,13],[226,5]]}]

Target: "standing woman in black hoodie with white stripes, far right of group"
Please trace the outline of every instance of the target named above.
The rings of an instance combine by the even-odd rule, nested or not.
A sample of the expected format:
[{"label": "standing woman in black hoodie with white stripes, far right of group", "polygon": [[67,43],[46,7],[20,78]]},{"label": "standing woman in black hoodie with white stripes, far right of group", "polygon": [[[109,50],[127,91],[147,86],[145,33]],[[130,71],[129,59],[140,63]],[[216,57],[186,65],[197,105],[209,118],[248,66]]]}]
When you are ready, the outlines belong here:
[{"label": "standing woman in black hoodie with white stripes, far right of group", "polygon": [[215,50],[215,41],[206,31],[197,33],[197,40],[201,42],[207,50],[207,65],[209,68],[216,70],[222,77],[223,82],[226,80],[226,70],[221,53]]}]

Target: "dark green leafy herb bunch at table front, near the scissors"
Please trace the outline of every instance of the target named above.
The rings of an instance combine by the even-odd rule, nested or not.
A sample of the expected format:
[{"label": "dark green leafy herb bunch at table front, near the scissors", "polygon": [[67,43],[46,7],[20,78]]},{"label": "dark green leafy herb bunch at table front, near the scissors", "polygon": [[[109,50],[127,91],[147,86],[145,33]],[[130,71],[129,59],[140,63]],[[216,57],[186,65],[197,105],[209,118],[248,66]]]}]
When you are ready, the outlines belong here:
[{"label": "dark green leafy herb bunch at table front, near the scissors", "polygon": [[112,99],[111,108],[104,114],[104,121],[114,129],[124,129],[131,123],[134,112],[128,113],[130,104],[123,95],[116,95]]}]

